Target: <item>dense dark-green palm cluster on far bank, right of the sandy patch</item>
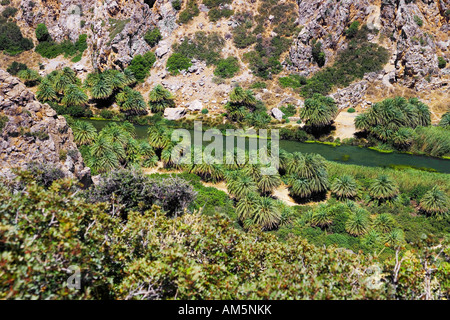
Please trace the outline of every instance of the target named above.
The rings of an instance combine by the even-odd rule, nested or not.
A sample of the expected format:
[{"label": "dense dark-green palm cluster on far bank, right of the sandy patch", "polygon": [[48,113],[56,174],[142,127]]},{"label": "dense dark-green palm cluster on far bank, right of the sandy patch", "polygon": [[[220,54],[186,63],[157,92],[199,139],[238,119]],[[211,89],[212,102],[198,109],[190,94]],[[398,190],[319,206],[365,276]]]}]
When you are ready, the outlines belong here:
[{"label": "dense dark-green palm cluster on far bank, right of the sandy patch", "polygon": [[389,98],[375,103],[365,113],[358,115],[355,126],[383,142],[407,149],[413,142],[413,129],[431,124],[428,106],[417,98]]}]

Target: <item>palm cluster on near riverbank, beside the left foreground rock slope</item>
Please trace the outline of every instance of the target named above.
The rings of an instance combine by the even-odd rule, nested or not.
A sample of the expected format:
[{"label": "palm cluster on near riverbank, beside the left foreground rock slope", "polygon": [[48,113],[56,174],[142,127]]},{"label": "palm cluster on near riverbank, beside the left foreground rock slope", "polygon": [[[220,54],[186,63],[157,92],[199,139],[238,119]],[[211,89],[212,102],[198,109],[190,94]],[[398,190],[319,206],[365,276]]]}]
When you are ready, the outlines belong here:
[{"label": "palm cluster on near riverbank, beside the left foreground rock slope", "polygon": [[94,173],[140,165],[154,167],[158,162],[155,150],[147,141],[134,138],[134,126],[110,123],[99,133],[86,121],[72,124],[75,143]]}]

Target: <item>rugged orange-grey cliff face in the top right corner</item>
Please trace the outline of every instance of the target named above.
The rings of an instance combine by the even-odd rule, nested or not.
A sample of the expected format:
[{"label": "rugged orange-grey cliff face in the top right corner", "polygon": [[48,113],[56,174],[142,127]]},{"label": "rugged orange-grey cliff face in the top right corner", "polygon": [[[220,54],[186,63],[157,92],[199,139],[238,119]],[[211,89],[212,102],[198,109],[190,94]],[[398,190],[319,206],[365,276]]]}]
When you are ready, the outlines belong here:
[{"label": "rugged orange-grey cliff face in the top right corner", "polygon": [[[345,31],[353,21],[359,21],[378,36],[378,42],[391,54],[390,80],[416,90],[442,82],[447,69],[438,68],[438,57],[450,59],[448,32],[450,9],[448,1],[405,0],[341,0],[302,1],[299,4],[299,25],[303,26],[290,50],[293,71],[309,76],[319,70],[312,59],[312,43],[322,43],[326,61],[345,49]],[[444,81],[445,82],[445,81]],[[448,81],[447,81],[448,82]]]}]

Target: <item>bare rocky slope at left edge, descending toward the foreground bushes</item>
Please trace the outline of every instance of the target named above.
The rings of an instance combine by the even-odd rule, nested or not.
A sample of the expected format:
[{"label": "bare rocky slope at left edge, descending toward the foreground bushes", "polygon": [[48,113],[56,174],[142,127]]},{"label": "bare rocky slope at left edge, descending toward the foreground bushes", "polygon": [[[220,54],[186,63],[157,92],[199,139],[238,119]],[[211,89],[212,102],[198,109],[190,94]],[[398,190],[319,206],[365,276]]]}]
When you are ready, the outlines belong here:
[{"label": "bare rocky slope at left edge, descending toward the foreground bushes", "polygon": [[[67,177],[91,183],[90,169],[73,141],[72,129],[62,116],[35,99],[19,79],[0,69],[0,175],[32,162],[51,164]],[[3,121],[2,121],[3,123]]]}]

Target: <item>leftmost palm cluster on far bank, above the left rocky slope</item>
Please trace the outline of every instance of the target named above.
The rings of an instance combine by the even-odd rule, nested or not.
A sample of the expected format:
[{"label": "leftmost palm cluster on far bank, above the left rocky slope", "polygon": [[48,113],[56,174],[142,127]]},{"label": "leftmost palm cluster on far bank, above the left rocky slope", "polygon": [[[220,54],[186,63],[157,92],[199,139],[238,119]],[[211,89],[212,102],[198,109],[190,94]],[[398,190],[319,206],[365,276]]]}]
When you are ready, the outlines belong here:
[{"label": "leftmost palm cluster on far bank, above the left rocky slope", "polygon": [[41,81],[36,97],[41,102],[62,103],[66,107],[84,106],[89,101],[81,88],[81,81],[69,67],[48,74]]}]

